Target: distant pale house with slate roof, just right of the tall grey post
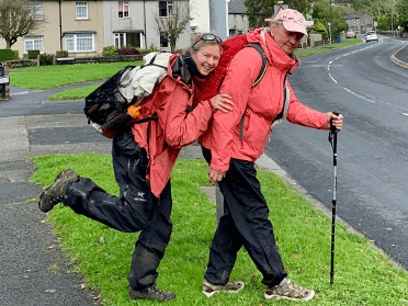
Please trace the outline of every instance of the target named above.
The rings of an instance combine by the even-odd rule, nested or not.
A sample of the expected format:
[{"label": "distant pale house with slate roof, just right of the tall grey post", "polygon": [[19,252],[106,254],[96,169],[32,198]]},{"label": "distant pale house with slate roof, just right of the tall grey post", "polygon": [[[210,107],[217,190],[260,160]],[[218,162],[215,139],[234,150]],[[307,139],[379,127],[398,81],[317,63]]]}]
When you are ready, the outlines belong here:
[{"label": "distant pale house with slate roof, just right of the tall grey post", "polygon": [[228,30],[229,36],[248,33],[249,21],[245,0],[230,0],[228,2]]}]

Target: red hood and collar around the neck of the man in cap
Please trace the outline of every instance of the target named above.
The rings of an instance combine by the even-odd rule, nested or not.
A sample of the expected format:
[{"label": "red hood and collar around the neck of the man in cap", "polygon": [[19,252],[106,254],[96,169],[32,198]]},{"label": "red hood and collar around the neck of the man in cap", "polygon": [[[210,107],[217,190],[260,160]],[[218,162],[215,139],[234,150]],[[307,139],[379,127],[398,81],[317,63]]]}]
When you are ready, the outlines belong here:
[{"label": "red hood and collar around the neck of the man in cap", "polygon": [[290,56],[282,50],[269,34],[269,27],[259,27],[248,32],[248,43],[259,43],[272,66],[276,67],[279,70],[286,70],[292,73],[292,71],[301,64],[301,60],[297,59],[294,54]]}]

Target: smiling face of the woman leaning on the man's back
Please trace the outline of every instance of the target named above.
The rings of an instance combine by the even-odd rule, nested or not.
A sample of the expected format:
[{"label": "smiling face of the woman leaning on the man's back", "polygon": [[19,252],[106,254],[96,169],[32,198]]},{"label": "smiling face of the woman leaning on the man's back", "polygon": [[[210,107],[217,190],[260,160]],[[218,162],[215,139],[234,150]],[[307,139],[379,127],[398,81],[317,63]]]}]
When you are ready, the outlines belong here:
[{"label": "smiling face of the woman leaning on the man's back", "polygon": [[220,47],[218,44],[206,45],[201,47],[197,52],[191,54],[200,73],[208,76],[213,71],[219,61]]}]

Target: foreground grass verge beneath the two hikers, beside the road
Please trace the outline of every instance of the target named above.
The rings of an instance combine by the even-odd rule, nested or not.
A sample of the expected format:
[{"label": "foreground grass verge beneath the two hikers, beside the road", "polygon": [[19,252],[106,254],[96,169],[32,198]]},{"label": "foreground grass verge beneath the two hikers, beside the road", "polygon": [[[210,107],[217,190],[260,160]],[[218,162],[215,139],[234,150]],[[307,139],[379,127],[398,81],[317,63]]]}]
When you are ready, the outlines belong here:
[{"label": "foreground grass verge beneath the two hikers, beside the road", "polygon": [[[57,173],[71,167],[117,194],[109,155],[54,155],[34,158],[35,183],[49,185]],[[239,294],[220,293],[212,298],[201,293],[208,248],[216,228],[216,207],[201,185],[208,185],[203,160],[178,160],[172,172],[173,234],[159,267],[158,285],[173,291],[171,305],[303,305],[263,298],[262,276],[242,249],[233,280],[246,283]],[[363,236],[336,227],[335,284],[330,285],[331,218],[287,186],[275,174],[259,170],[258,178],[270,206],[276,245],[292,280],[316,291],[308,305],[408,305],[408,276]],[[325,186],[322,186],[325,188]],[[104,305],[158,305],[127,302],[131,257],[138,234],[124,234],[55,207],[48,220],[60,238],[64,252],[76,263],[86,286],[100,293]],[[103,241],[101,242],[101,238]]]}]

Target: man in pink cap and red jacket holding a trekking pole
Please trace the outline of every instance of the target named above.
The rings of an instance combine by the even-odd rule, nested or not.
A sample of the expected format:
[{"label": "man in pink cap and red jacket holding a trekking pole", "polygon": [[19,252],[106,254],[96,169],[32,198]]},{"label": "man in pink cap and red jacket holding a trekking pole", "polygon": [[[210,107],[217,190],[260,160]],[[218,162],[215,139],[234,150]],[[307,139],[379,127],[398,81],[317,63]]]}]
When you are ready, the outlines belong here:
[{"label": "man in pink cap and red jacket holding a trekking pole", "polygon": [[[209,181],[218,182],[224,195],[224,214],[209,249],[202,292],[211,297],[219,291],[243,288],[242,282],[229,280],[237,253],[243,246],[262,273],[265,298],[309,301],[315,292],[287,279],[254,161],[263,154],[272,127],[284,120],[327,131],[330,123],[341,129],[343,116],[302,104],[287,80],[299,65],[294,50],[307,35],[305,18],[298,11],[283,10],[267,21],[271,22],[270,27],[247,34],[248,44],[259,44],[264,55],[252,47],[240,49],[229,63],[219,88],[218,92],[231,97],[234,110],[216,113],[200,139],[209,165]],[[268,59],[267,69],[254,84],[263,57]]]}]

